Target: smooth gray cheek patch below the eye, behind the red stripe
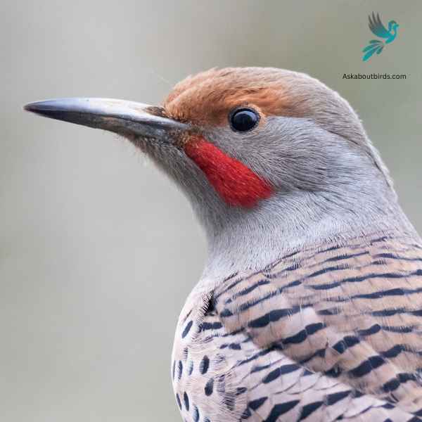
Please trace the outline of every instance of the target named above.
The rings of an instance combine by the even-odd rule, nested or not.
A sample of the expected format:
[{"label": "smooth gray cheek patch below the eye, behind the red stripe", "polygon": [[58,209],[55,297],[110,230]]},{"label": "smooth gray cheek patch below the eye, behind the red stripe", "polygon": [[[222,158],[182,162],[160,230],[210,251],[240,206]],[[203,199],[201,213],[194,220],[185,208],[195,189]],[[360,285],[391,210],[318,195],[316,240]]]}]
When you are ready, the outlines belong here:
[{"label": "smooth gray cheek patch below the eye, behind the red stripe", "polygon": [[229,124],[204,130],[205,138],[270,181],[276,191],[315,190],[326,183],[333,136],[312,120],[268,117],[250,132],[234,132]]}]

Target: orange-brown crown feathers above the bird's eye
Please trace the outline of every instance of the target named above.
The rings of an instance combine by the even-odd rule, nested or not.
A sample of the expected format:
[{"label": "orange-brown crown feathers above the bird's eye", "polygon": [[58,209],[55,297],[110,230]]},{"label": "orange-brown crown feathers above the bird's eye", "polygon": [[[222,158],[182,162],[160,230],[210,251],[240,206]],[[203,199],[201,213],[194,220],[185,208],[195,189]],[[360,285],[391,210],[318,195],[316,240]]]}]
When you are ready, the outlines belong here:
[{"label": "orange-brown crown feathers above the bird's eye", "polygon": [[237,106],[253,106],[262,117],[300,117],[304,110],[288,92],[294,75],[275,68],[214,68],[179,82],[163,106],[175,120],[206,126],[226,123]]}]

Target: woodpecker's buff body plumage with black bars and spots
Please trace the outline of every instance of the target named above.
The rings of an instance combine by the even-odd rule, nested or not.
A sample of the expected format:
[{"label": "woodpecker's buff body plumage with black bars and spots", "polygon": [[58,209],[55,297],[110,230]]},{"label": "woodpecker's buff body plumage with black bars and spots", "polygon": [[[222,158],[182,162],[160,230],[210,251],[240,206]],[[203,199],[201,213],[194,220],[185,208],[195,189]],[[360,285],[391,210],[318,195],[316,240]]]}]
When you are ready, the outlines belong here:
[{"label": "woodpecker's buff body plumage with black bars and spots", "polygon": [[[173,352],[193,370],[173,377],[177,397],[210,421],[418,421],[416,242],[373,234],[315,245],[193,290]],[[191,407],[181,412],[196,420]]]}]

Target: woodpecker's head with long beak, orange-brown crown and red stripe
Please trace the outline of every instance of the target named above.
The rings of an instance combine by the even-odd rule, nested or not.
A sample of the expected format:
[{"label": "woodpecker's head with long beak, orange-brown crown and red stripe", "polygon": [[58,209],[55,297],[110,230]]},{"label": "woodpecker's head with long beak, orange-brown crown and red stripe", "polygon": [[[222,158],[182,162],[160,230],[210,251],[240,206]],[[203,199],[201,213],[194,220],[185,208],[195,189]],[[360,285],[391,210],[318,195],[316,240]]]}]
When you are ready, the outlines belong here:
[{"label": "woodpecker's head with long beak, orange-brown crown and red stripe", "polygon": [[127,137],[183,188],[210,236],[243,223],[258,234],[267,223],[306,230],[355,215],[361,202],[370,211],[374,192],[389,189],[347,101],[298,72],[208,70],[160,107],[74,98],[25,108]]}]

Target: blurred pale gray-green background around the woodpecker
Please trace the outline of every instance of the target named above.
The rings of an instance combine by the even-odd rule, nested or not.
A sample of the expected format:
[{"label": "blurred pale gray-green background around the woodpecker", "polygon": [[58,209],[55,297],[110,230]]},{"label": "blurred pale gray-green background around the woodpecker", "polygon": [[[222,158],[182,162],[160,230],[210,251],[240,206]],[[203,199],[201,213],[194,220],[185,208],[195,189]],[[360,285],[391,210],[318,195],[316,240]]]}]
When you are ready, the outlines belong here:
[{"label": "blurred pale gray-green background around the woodpecker", "polygon": [[[371,11],[399,23],[368,63]],[[23,113],[156,104],[214,66],[308,72],[357,110],[422,231],[420,1],[6,1],[0,22],[0,420],[179,421],[170,352],[205,241],[177,188],[106,132]],[[406,80],[346,80],[348,72]]]}]

